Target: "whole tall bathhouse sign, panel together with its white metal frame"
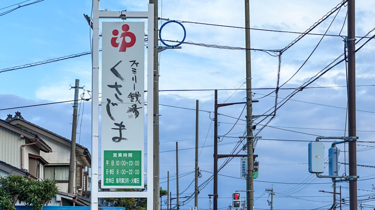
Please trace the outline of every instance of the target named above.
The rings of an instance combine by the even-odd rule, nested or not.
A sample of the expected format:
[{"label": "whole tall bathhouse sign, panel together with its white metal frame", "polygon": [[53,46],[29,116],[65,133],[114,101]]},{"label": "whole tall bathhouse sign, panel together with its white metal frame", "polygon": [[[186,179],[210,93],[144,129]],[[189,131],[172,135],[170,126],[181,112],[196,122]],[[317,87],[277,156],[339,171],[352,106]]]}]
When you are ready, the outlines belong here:
[{"label": "whole tall bathhouse sign, panel together with its white metal frame", "polygon": [[[98,170],[99,18],[124,17],[148,19],[148,39],[153,40],[153,4],[148,4],[144,12],[101,11],[99,0],[93,0],[91,210],[98,210],[98,198],[147,198],[147,210],[153,207],[152,188],[139,192],[98,191],[99,175],[102,188],[144,187],[144,22],[103,23],[102,167]],[[153,44],[147,49],[147,90],[151,90],[147,94],[150,99],[147,104],[148,186],[153,186],[153,49]]]}]

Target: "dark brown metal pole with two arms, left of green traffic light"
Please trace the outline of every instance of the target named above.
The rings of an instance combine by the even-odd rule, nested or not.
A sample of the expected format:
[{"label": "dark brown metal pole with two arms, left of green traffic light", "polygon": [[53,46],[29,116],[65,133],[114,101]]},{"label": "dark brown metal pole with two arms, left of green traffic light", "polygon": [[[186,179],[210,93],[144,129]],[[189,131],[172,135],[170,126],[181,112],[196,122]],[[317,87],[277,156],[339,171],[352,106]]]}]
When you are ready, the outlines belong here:
[{"label": "dark brown metal pole with two arms, left of green traffic light", "polygon": [[217,210],[217,90],[214,105],[214,143],[213,143],[213,210]]}]

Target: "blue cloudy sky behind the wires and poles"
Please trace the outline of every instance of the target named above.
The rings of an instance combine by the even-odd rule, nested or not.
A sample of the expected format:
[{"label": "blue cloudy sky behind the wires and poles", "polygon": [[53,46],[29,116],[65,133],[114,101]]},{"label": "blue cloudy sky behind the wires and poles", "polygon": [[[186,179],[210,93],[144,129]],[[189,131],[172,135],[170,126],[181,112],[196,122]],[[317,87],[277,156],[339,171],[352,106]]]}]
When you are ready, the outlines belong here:
[{"label": "blue cloudy sky behind the wires and poles", "polygon": [[[32,1],[30,1],[32,2]],[[251,28],[303,32],[320,18],[326,15],[341,1],[251,1]],[[17,4],[19,1],[1,1],[0,8]],[[27,2],[29,3],[29,2]],[[100,9],[144,11],[148,1],[102,0]],[[23,3],[24,4],[24,3]],[[0,34],[0,69],[16,67],[62,56],[87,52],[90,50],[89,25],[83,13],[90,14],[92,1],[53,1],[45,0],[30,6],[21,7],[13,12],[0,16],[3,30]],[[15,6],[1,9],[0,12]],[[375,3],[372,1],[357,1],[356,3],[356,35],[363,36],[375,25]],[[337,14],[327,34],[339,35],[347,12],[342,7],[337,13],[318,25],[312,33],[325,33],[333,17]],[[172,1],[159,0],[159,17],[180,21],[201,22],[218,25],[244,27],[243,0],[216,1]],[[115,21],[115,20],[113,20]],[[163,21],[165,22],[165,21]],[[218,27],[184,23],[186,40],[193,43],[215,44],[220,46],[244,47],[245,31],[239,28]],[[147,26],[147,24],[146,24]],[[160,27],[160,22],[159,22]],[[146,28],[147,29],[147,28]],[[145,30],[147,34],[147,30]],[[181,40],[183,31],[177,24],[168,24],[163,29],[163,38]],[[369,36],[374,35],[371,32]],[[347,34],[347,25],[341,35]],[[254,49],[283,49],[299,34],[280,33],[271,31],[251,30],[251,48]],[[322,38],[321,35],[306,35],[282,54],[280,84],[284,84],[305,62],[312,50]],[[359,40],[359,38],[357,38]],[[324,67],[329,65],[344,52],[341,37],[326,36],[318,45],[301,70],[283,87],[297,88],[314,77]],[[366,40],[361,40],[357,47]],[[246,92],[238,90],[245,84],[245,51],[241,49],[218,49],[191,44],[181,45],[182,49],[165,50],[160,56],[160,90],[199,90],[199,89],[234,89],[219,90],[218,101],[244,102]],[[362,141],[375,140],[374,128],[374,68],[375,44],[369,41],[356,55],[357,87],[357,136]],[[341,60],[341,57],[339,60]],[[254,104],[253,114],[263,114],[275,105],[275,95],[262,98],[272,90],[259,88],[276,87],[278,57],[265,52],[251,51],[252,85],[254,98],[260,102]],[[146,65],[145,65],[146,66]],[[71,136],[72,106],[70,103],[34,106],[28,108],[7,109],[19,106],[45,104],[68,101],[74,98],[74,91],[69,90],[75,79],[80,79],[80,86],[91,90],[91,57],[90,55],[64,61],[38,65],[36,67],[1,72],[0,78],[0,118],[6,114],[20,111],[23,117],[52,132],[66,138]],[[330,179],[317,178],[308,173],[308,142],[279,141],[283,140],[315,140],[316,136],[344,136],[346,122],[347,94],[345,62],[328,71],[309,87],[297,93],[281,108],[277,117],[265,127],[258,136],[259,140],[255,154],[260,161],[259,178],[254,182],[255,209],[269,209],[266,188],[274,189],[274,209],[328,209],[332,205],[332,194],[318,192],[332,191]],[[280,90],[279,101],[287,97],[293,90]],[[80,93],[83,93],[80,90]],[[195,100],[199,100],[199,167],[202,177],[199,184],[204,183],[213,172],[213,122],[214,95],[213,91],[173,91],[160,92],[160,186],[166,189],[166,174],[169,171],[171,179],[175,176],[175,141],[179,149],[179,173],[181,196],[189,196],[193,186],[194,149],[195,145],[195,111],[171,106],[195,109]],[[87,91],[83,97],[90,98]],[[293,99],[293,100],[292,100]],[[145,98],[147,100],[147,98]],[[165,106],[168,105],[168,106]],[[7,110],[3,110],[7,109]],[[219,135],[239,137],[245,130],[245,113],[243,105],[226,106],[219,109]],[[99,112],[100,113],[100,112]],[[231,117],[227,117],[228,115]],[[240,120],[236,123],[236,118]],[[262,121],[264,124],[269,118]],[[260,122],[262,118],[255,120]],[[91,102],[80,104],[77,142],[91,149]],[[233,127],[233,129],[231,129]],[[257,129],[262,126],[258,125]],[[282,130],[284,129],[284,130]],[[300,133],[299,133],[300,132]],[[229,154],[237,145],[237,151],[242,142],[239,138],[223,138],[219,142],[219,154]],[[220,145],[221,144],[221,145]],[[358,164],[375,165],[373,143],[357,142]],[[326,156],[330,143],[326,143]],[[348,162],[347,146],[341,148],[340,162]],[[241,151],[239,154],[245,154]],[[147,155],[146,155],[147,156]],[[219,166],[225,160],[219,160]],[[231,194],[236,190],[245,190],[245,180],[240,179],[240,160],[234,158],[219,175],[219,205],[226,209],[231,204]],[[375,205],[368,200],[374,196],[374,168],[358,167],[358,200],[364,200],[364,205]],[[325,173],[328,170],[326,169]],[[348,174],[348,167],[341,167],[340,173]],[[367,179],[367,180],[362,180]],[[293,184],[291,184],[293,183]],[[303,184],[295,184],[303,183]],[[306,183],[314,183],[307,185]],[[319,184],[321,183],[321,184]],[[348,200],[348,183],[342,182],[342,197]],[[175,180],[170,183],[172,194],[176,194]],[[372,191],[372,192],[369,192]],[[212,181],[200,190],[199,209],[208,209],[208,194],[213,194]],[[172,195],[174,197],[175,195]],[[245,194],[242,194],[245,197]],[[259,197],[259,198],[258,198]],[[366,200],[367,199],[367,200]],[[165,200],[165,198],[163,198]],[[184,201],[183,198],[180,201]],[[182,204],[182,203],[181,203]],[[184,202],[181,210],[193,206],[193,201]],[[348,204],[348,202],[346,202]],[[344,204],[343,208],[348,209]],[[163,205],[165,205],[163,203]],[[370,206],[367,206],[370,207]],[[372,207],[374,208],[374,207]]]}]

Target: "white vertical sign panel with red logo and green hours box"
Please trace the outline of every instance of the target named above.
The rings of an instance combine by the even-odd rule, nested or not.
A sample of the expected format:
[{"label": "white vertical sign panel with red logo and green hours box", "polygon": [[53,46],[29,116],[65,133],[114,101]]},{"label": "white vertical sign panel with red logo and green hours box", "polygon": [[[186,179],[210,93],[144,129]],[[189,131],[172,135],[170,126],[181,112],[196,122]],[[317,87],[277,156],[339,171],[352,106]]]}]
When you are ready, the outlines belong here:
[{"label": "white vertical sign panel with red logo and green hours box", "polygon": [[144,187],[144,22],[103,22],[101,187]]}]

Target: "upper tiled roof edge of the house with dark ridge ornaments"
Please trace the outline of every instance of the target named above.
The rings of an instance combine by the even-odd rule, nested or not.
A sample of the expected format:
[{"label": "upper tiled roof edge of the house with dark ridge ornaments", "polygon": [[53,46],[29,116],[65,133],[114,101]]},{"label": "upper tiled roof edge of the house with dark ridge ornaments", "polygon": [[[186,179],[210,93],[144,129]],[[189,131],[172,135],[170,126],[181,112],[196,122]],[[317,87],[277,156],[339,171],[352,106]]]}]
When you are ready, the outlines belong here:
[{"label": "upper tiled roof edge of the house with dark ridge ornaments", "polygon": [[[24,122],[26,124],[29,124],[31,126],[36,127],[37,129],[40,129],[40,130],[42,130],[44,132],[49,133],[52,136],[57,137],[57,139],[55,139],[55,140],[60,139],[60,140],[62,140],[61,142],[65,143],[66,145],[70,145],[71,144],[71,142],[72,142],[71,140],[69,140],[69,139],[67,139],[67,138],[65,138],[63,136],[60,136],[57,133],[51,132],[50,130],[47,130],[47,129],[43,128],[43,127],[40,127],[40,126],[38,126],[38,125],[36,125],[34,123],[31,123],[30,121],[25,120],[22,117],[21,112],[15,112],[15,113],[16,113],[16,115],[14,117],[12,117],[12,115],[9,114],[8,117],[7,117],[7,119],[6,119],[6,121],[9,122],[9,123],[13,123],[13,124],[21,124],[21,122]],[[89,152],[89,149],[87,149],[86,147],[84,147],[84,146],[82,146],[82,145],[80,145],[78,143],[76,143],[76,147],[78,148],[78,151],[82,152],[86,156],[86,160],[87,160],[88,164],[91,166],[91,154]]]}]

